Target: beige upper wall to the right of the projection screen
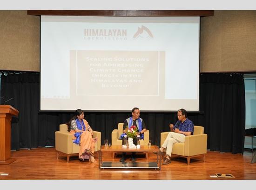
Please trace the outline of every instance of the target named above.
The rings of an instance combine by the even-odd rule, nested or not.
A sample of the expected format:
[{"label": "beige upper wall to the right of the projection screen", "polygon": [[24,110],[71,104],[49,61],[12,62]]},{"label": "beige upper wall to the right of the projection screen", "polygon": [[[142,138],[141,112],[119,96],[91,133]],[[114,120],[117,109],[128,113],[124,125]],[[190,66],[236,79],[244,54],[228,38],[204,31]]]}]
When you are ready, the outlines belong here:
[{"label": "beige upper wall to the right of the projection screen", "polygon": [[201,72],[256,71],[256,11],[201,18]]}]

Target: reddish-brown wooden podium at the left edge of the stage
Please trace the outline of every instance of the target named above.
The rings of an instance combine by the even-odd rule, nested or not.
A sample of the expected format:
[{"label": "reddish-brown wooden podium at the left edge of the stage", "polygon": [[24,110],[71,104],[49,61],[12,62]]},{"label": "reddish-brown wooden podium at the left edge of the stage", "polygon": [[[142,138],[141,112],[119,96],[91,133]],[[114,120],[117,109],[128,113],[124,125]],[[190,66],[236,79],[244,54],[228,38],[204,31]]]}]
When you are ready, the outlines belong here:
[{"label": "reddish-brown wooden podium at the left edge of the stage", "polygon": [[0,105],[0,165],[8,165],[16,159],[11,158],[11,120],[19,111],[10,105]]}]

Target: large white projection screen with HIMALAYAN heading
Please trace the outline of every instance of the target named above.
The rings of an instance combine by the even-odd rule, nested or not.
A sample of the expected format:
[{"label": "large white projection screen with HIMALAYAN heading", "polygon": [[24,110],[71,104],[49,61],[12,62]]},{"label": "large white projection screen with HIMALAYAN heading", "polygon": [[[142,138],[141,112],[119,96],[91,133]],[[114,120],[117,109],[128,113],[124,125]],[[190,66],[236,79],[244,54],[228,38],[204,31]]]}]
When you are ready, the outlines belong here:
[{"label": "large white projection screen with HIMALAYAN heading", "polygon": [[199,111],[199,17],[41,16],[40,110]]}]

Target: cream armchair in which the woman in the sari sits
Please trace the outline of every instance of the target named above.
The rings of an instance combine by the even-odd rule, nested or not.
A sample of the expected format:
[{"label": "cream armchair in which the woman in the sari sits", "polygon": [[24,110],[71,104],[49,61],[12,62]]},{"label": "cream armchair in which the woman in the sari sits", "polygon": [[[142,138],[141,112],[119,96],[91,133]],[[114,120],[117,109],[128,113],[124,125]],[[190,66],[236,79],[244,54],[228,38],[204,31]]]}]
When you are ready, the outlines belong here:
[{"label": "cream armchair in which the woman in the sari sits", "polygon": [[[95,142],[94,152],[97,152],[99,158],[99,151],[101,150],[101,132],[93,131],[93,137],[97,137]],[[60,131],[55,132],[55,150],[57,151],[57,159],[59,159],[60,154],[67,156],[67,162],[69,162],[70,156],[78,156],[80,146],[72,142],[72,134],[67,131],[67,125],[61,124]]]}]

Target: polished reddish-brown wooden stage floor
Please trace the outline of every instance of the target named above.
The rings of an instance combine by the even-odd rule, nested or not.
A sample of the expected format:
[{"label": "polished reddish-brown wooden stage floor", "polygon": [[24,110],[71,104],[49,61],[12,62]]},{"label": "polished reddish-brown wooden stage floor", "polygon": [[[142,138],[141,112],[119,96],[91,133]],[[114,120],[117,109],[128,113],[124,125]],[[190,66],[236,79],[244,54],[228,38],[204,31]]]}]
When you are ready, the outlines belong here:
[{"label": "polished reddish-brown wooden stage floor", "polygon": [[[148,169],[105,169],[99,171],[98,162],[81,161],[76,156],[71,157],[67,163],[66,157],[56,159],[54,148],[22,149],[11,152],[16,161],[10,165],[0,165],[0,179],[213,179],[210,175],[215,173],[230,173],[233,179],[256,179],[256,163],[250,164],[252,152],[244,154],[231,154],[220,152],[207,152],[205,162],[202,158],[191,159],[187,165],[185,158],[172,158],[172,163],[162,165],[162,171]],[[120,157],[112,160],[112,154],[103,153],[103,161],[119,161]],[[156,155],[148,153],[148,161],[154,161]],[[96,158],[98,161],[98,158]],[[130,161],[128,158],[127,161]],[[138,155],[137,161],[147,162],[143,155]]]}]

